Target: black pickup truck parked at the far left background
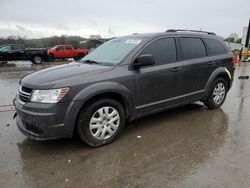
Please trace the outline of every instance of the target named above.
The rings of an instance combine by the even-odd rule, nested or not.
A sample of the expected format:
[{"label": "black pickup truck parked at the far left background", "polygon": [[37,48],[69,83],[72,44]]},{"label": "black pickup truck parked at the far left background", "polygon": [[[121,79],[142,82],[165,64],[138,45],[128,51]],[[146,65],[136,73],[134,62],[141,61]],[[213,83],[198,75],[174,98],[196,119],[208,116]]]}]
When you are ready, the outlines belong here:
[{"label": "black pickup truck parked at the far left background", "polygon": [[25,49],[22,44],[6,44],[0,46],[0,62],[3,64],[8,61],[32,61],[34,64],[41,64],[47,60],[47,49]]}]

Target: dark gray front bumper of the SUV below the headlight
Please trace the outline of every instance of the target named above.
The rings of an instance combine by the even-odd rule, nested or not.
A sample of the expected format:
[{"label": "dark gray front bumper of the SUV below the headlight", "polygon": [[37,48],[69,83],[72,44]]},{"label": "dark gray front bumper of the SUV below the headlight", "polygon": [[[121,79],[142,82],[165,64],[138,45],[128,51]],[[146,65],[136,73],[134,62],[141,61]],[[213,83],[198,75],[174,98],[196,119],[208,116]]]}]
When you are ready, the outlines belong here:
[{"label": "dark gray front bumper of the SUV below the headlight", "polygon": [[74,102],[56,104],[23,103],[14,100],[18,129],[35,140],[50,140],[72,137],[76,120],[72,114]]}]

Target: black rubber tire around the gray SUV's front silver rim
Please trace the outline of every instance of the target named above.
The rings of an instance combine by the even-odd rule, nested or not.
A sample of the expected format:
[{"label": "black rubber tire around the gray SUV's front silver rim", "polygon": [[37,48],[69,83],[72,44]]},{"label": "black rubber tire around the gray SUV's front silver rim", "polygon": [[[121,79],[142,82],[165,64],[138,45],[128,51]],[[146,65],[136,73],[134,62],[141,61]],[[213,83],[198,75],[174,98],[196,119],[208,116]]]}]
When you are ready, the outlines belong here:
[{"label": "black rubber tire around the gray SUV's front silver rim", "polygon": [[[90,129],[91,118],[94,117],[94,115],[97,113],[98,109],[102,109],[102,108],[107,107],[107,106],[115,109],[116,112],[118,112],[118,114],[119,114],[118,118],[120,118],[120,119],[116,120],[116,121],[119,122],[118,123],[119,125],[117,126],[117,128],[114,131],[112,136],[110,136],[108,138],[104,138],[104,139],[97,139],[93,136],[94,129],[92,129],[92,130]],[[98,118],[100,118],[100,117],[98,117]],[[111,120],[111,118],[110,118],[110,120]],[[103,121],[103,119],[101,121]],[[106,128],[107,128],[107,126],[109,126],[108,121],[106,121],[105,130],[104,130],[103,124],[101,125],[101,123],[99,122],[99,125],[98,125],[99,128],[96,128],[97,130],[95,133],[97,133],[99,131],[98,129],[101,129],[101,131],[99,131],[97,134],[100,133],[99,135],[102,135],[103,132],[105,132],[104,134],[106,134],[108,132],[108,131],[106,131]],[[84,141],[89,146],[99,147],[99,146],[109,144],[112,141],[114,141],[117,138],[117,136],[122,132],[122,130],[125,126],[125,122],[126,122],[126,116],[125,116],[125,111],[124,111],[123,106],[119,102],[117,102],[116,100],[104,98],[104,99],[100,99],[100,100],[86,106],[85,108],[83,108],[81,110],[79,117],[78,117],[76,128],[77,128],[77,133],[82,141]],[[111,129],[111,128],[112,128],[112,126],[110,126],[109,129]]]}]

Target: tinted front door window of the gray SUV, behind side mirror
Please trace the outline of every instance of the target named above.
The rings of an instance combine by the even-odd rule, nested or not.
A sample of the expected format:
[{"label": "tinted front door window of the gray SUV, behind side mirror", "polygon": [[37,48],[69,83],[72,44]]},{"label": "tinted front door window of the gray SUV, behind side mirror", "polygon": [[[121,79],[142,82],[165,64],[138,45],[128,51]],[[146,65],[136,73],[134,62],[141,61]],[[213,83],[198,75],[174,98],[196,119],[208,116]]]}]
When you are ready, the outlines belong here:
[{"label": "tinted front door window of the gray SUV, behind side mirror", "polygon": [[153,41],[146,46],[140,55],[151,54],[155,65],[172,63],[177,60],[176,45],[174,38],[163,38]]}]

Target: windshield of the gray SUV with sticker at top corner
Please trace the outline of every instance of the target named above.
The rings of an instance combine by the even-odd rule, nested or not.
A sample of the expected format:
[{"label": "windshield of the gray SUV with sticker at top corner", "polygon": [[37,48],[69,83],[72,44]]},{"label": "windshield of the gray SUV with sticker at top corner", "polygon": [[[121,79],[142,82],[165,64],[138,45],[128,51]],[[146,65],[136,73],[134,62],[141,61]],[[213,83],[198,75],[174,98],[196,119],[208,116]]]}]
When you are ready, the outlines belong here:
[{"label": "windshield of the gray SUV with sticker at top corner", "polygon": [[103,65],[119,64],[140,42],[141,38],[115,38],[110,40],[80,60],[83,63]]}]

